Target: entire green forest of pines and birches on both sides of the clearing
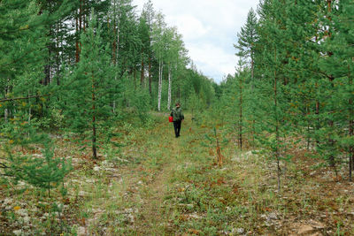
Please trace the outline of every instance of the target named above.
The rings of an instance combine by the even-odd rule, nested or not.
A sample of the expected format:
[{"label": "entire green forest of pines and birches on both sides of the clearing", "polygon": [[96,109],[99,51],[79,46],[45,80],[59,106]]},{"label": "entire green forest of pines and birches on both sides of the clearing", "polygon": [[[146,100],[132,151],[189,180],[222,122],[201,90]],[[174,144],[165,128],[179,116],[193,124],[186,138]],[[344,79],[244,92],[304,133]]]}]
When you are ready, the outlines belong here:
[{"label": "entire green forest of pines and birches on both sides of the clearing", "polygon": [[352,181],[353,16],[351,0],[261,0],[235,33],[235,74],[217,84],[151,1],[138,13],[131,0],[2,0],[1,181],[50,194],[73,171],[53,139],[95,161],[128,145],[117,126],[153,127],[177,102],[215,138],[268,156],[278,191],[294,148]]}]

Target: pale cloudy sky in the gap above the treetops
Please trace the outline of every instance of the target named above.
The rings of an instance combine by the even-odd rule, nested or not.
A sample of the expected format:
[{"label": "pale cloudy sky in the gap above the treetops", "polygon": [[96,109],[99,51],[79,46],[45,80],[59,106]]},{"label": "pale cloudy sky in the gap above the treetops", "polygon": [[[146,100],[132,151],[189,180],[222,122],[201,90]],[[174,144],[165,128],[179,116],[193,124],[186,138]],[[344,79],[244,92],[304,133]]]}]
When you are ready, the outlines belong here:
[{"label": "pale cloudy sky in the gap above the treetops", "polygon": [[[133,0],[137,10],[148,0]],[[169,27],[183,35],[189,57],[198,71],[219,83],[235,73],[234,44],[259,0],[151,0],[154,10],[165,15]]]}]

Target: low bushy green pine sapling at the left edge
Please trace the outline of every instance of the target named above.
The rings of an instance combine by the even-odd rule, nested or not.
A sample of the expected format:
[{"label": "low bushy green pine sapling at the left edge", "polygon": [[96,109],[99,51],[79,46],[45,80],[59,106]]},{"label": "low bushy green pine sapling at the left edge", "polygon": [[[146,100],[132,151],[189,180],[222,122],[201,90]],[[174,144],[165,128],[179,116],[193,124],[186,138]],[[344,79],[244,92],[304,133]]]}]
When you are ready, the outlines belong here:
[{"label": "low bushy green pine sapling at the left edge", "polygon": [[[20,117],[21,113],[17,115]],[[48,189],[50,193],[50,189],[58,187],[72,170],[69,160],[54,156],[49,136],[27,121],[13,118],[2,129],[5,140],[0,166],[4,176],[24,180],[35,187]]]}]

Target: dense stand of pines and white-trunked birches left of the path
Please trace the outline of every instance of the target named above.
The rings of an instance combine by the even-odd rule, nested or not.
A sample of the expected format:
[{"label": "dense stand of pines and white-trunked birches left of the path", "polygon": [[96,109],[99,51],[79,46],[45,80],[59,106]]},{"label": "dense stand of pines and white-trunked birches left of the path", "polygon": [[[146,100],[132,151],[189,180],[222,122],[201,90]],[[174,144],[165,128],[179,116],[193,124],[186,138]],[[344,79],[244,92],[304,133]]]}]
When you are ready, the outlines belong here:
[{"label": "dense stand of pines and white-trunked birches left of the path", "polygon": [[217,85],[189,66],[181,34],[151,2],[139,16],[129,0],[0,7],[0,109],[11,142],[18,127],[67,128],[92,140],[96,158],[96,137],[128,113],[145,124],[150,110],[212,103]]}]

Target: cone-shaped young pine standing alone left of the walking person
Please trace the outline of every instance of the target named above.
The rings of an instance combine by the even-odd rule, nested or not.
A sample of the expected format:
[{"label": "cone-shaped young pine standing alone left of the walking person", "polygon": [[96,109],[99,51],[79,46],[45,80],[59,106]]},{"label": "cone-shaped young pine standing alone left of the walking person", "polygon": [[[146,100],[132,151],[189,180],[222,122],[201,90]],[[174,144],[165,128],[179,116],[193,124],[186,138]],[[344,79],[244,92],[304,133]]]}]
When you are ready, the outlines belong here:
[{"label": "cone-shaped young pine standing alone left of the walking person", "polygon": [[72,69],[73,72],[69,72],[68,80],[65,81],[67,89],[62,97],[67,125],[81,134],[91,130],[89,137],[95,159],[97,130],[104,127],[104,121],[109,121],[112,115],[111,102],[119,92],[109,47],[107,45],[104,48],[101,27],[96,25],[96,16],[92,13],[89,28],[81,34],[81,60]]}]

